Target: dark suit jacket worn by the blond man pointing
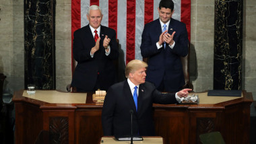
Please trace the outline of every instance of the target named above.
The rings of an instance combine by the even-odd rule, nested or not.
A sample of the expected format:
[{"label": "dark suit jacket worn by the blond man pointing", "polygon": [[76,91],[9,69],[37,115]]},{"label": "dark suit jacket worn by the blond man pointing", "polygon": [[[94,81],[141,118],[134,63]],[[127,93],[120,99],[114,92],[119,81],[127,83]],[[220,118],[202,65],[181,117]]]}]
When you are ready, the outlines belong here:
[{"label": "dark suit jacket worn by the blond man pointing", "polygon": [[102,127],[105,136],[129,136],[131,135],[131,114],[133,110],[133,134],[152,136],[154,122],[152,117],[153,103],[173,104],[177,103],[175,94],[162,94],[150,82],[139,85],[137,99],[138,110],[136,112],[133,95],[127,82],[116,83],[108,89],[102,108]]}]

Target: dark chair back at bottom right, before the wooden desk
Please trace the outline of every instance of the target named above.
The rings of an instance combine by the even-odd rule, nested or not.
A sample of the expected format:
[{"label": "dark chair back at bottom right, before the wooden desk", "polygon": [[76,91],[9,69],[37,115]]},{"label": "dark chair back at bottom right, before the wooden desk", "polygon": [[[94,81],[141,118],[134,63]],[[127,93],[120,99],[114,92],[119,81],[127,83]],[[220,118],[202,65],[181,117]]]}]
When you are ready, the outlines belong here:
[{"label": "dark chair back at bottom right, before the wooden desk", "polygon": [[203,144],[225,144],[222,135],[218,131],[201,134],[199,138]]}]

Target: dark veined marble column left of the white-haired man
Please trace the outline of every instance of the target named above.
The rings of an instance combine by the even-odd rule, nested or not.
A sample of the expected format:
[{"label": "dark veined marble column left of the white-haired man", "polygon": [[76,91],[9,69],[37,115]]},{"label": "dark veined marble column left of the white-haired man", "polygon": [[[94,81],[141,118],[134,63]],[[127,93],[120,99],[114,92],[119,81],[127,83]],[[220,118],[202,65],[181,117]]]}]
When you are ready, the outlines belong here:
[{"label": "dark veined marble column left of the white-haired man", "polygon": [[24,0],[25,88],[55,89],[55,0]]}]

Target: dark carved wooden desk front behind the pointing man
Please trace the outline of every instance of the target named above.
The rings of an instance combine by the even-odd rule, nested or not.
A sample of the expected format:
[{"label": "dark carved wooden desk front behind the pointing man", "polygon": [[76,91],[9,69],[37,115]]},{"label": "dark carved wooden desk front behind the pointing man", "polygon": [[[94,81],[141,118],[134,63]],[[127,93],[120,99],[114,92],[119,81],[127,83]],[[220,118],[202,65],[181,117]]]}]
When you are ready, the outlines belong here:
[{"label": "dark carved wooden desk front behind the pointing man", "polygon": [[[94,144],[103,136],[102,105],[92,102],[92,94],[87,94],[86,104],[51,104],[23,92],[13,95],[15,143],[34,143],[40,131],[49,131],[49,141],[59,143]],[[226,143],[249,143],[252,102],[252,94],[243,91],[242,98],[218,104],[154,104],[156,135],[164,143],[193,144],[200,143],[202,133],[220,131]]]}]

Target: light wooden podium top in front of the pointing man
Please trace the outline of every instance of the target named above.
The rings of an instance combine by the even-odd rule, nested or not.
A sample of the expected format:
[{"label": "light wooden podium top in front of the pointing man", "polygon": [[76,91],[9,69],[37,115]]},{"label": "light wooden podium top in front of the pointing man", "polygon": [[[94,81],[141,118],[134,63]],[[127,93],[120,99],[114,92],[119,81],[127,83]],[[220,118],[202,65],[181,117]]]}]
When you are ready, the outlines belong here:
[{"label": "light wooden podium top in front of the pointing man", "polygon": [[[117,141],[115,137],[102,137],[99,144],[128,144],[131,141]],[[143,141],[133,141],[133,144],[163,144],[162,137],[143,137]]]}]

